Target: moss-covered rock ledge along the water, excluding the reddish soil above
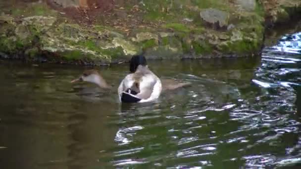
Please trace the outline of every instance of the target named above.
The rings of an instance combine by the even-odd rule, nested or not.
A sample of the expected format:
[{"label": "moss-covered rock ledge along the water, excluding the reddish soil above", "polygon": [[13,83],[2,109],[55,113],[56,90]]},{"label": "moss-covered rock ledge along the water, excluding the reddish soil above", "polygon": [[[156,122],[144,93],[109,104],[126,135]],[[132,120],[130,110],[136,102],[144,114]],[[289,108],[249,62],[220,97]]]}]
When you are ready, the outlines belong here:
[{"label": "moss-covered rock ledge along the water, excluding the reddish soil above", "polygon": [[[143,12],[131,17],[142,21],[137,22],[142,27],[133,29],[79,24],[44,3],[13,9],[12,17],[0,17],[0,52],[19,53],[33,60],[47,53],[45,58],[50,61],[109,64],[142,52],[151,58],[168,59],[215,53],[245,55],[259,51],[263,41],[263,8],[258,3],[248,11],[238,11],[229,0],[154,0],[138,6]],[[132,7],[123,10],[128,12]],[[200,12],[209,8],[225,14],[224,29],[209,29],[201,20]]]}]

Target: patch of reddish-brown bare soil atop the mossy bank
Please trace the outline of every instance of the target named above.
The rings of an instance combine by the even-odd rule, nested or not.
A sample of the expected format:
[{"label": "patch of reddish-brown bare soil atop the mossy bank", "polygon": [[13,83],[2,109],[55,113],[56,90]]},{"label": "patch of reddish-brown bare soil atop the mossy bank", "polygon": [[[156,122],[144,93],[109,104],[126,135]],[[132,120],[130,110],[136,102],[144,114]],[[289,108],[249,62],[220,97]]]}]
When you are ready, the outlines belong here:
[{"label": "patch of reddish-brown bare soil atop the mossy bank", "polygon": [[[158,27],[158,23],[145,22],[138,0],[80,0],[79,6],[62,7],[53,0],[47,4],[60,11],[75,22],[84,25],[98,24],[114,27],[130,34],[130,30],[145,27]],[[132,8],[125,9],[125,5]]]}]

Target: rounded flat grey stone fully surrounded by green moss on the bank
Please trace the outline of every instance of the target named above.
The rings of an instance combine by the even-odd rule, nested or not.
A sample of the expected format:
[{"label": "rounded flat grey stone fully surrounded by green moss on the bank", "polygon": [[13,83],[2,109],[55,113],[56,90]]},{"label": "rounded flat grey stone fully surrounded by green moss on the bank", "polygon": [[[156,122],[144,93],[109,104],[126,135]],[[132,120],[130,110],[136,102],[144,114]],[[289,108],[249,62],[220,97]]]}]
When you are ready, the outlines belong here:
[{"label": "rounded flat grey stone fully surrounded by green moss on the bank", "polygon": [[227,27],[228,25],[229,13],[218,9],[203,9],[200,12],[200,16],[201,19],[207,22],[208,24],[213,26],[217,25],[217,28]]}]

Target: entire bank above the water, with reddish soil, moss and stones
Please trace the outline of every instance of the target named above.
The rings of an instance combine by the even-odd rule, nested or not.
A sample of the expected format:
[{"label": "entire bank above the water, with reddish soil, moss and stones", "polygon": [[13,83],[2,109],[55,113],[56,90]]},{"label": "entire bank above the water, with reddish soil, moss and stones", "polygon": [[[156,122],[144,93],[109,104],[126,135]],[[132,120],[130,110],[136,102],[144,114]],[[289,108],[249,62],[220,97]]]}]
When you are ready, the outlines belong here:
[{"label": "entire bank above the water, with reddish soil, moss and stones", "polygon": [[261,50],[265,26],[281,23],[273,5],[289,17],[299,10],[297,0],[285,7],[284,1],[0,2],[0,55],[86,65],[120,63],[140,53],[149,59],[250,57]]}]

